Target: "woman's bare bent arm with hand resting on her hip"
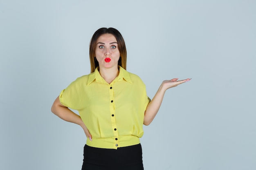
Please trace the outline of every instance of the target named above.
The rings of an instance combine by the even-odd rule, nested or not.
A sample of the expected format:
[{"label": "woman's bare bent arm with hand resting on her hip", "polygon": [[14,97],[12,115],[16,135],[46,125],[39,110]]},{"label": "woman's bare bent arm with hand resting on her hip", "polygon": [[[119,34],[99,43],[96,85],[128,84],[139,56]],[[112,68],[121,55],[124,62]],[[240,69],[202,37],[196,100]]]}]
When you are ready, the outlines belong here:
[{"label": "woman's bare bent arm with hand resting on her hip", "polygon": [[52,104],[52,113],[54,113],[55,115],[57,115],[58,117],[60,117],[65,121],[69,121],[74,124],[80,125],[83,128],[86,137],[89,137],[89,139],[92,140],[92,135],[90,134],[88,128],[83,123],[81,117],[76,113],[72,112],[72,110],[70,110],[63,104],[61,104],[59,97],[57,97],[54,103]]}]

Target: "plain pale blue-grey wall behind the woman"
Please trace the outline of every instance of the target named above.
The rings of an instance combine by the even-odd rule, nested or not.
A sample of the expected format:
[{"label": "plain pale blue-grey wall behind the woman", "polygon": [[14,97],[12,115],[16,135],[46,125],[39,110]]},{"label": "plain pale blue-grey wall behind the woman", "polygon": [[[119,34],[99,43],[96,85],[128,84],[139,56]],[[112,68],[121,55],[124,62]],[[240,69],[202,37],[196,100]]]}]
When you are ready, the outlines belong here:
[{"label": "plain pale blue-grey wall behind the woman", "polygon": [[101,27],[121,32],[150,98],[192,78],[144,126],[145,170],[256,169],[254,0],[0,0],[1,170],[81,169],[83,130],[50,108],[90,73]]}]

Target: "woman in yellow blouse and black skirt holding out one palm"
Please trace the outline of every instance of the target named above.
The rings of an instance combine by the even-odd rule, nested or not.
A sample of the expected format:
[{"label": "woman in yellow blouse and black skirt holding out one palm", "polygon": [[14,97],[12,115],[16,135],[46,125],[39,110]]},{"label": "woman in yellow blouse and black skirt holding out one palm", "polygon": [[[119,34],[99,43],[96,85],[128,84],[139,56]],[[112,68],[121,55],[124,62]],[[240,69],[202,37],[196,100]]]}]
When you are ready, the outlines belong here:
[{"label": "woman in yellow blouse and black skirt holding out one palm", "polygon": [[168,88],[190,79],[164,80],[150,100],[141,79],[126,71],[125,42],[114,28],[94,33],[90,63],[91,73],[64,89],[52,112],[83,128],[87,141],[82,170],[143,170],[143,124],[153,121]]}]

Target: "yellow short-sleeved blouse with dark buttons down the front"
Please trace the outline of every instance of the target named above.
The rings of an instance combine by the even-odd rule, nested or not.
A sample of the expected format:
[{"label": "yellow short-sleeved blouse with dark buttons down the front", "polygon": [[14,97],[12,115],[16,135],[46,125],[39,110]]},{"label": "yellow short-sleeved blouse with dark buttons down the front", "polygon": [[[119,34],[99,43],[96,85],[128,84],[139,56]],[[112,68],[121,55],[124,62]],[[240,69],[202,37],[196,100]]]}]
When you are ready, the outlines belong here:
[{"label": "yellow short-sleeved blouse with dark buttons down the front", "polygon": [[59,99],[64,106],[79,111],[92,135],[92,141],[86,141],[88,146],[117,149],[139,144],[150,99],[137,75],[119,66],[119,75],[108,84],[96,68],[72,82]]}]

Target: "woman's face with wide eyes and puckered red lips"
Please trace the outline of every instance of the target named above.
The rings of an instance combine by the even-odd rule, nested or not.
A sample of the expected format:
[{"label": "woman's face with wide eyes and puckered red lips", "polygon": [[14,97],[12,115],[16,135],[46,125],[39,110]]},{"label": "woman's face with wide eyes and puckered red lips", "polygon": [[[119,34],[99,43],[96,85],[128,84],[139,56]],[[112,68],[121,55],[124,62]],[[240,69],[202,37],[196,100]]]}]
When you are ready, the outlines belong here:
[{"label": "woman's face with wide eyes and puckered red lips", "polygon": [[103,34],[98,38],[95,54],[100,68],[118,68],[120,53],[117,45],[112,34]]}]

